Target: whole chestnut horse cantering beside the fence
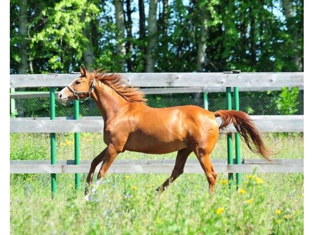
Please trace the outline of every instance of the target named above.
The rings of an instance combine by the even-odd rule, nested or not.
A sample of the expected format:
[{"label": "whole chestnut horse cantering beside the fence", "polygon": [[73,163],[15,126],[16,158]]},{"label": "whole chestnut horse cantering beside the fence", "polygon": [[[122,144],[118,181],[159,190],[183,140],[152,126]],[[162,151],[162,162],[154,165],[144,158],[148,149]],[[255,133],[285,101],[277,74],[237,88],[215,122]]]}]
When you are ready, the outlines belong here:
[{"label": "whole chestnut horse cantering beside the fence", "polygon": [[[244,112],[219,110],[210,112],[193,105],[151,108],[144,94],[129,87],[122,76],[89,72],[80,68],[80,76],[59,93],[59,101],[91,97],[104,119],[104,142],[107,147],[91,163],[86,179],[85,195],[96,166],[103,161],[97,179],[104,177],[117,155],[125,150],[165,154],[178,151],[171,176],[157,191],[164,191],[183,173],[191,152],[199,160],[212,193],[217,173],[210,162],[219,129],[233,123],[250,150],[268,160],[271,152],[265,147],[253,121]],[[216,117],[222,119],[218,127]]]}]

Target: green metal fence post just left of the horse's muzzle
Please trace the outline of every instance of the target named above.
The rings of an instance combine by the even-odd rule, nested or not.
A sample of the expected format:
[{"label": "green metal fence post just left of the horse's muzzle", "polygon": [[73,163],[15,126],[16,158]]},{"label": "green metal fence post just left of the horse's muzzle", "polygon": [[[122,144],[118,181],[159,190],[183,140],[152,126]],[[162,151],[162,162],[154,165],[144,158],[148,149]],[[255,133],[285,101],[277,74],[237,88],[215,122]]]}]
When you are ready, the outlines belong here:
[{"label": "green metal fence post just left of the horse's muzzle", "polygon": [[[54,88],[50,88],[50,119],[54,120],[55,118],[55,94]],[[50,133],[50,154],[51,154],[51,164],[56,164],[56,154],[55,154],[55,133]],[[57,191],[56,184],[56,175],[55,173],[51,174],[51,191],[52,198],[54,197]]]}]

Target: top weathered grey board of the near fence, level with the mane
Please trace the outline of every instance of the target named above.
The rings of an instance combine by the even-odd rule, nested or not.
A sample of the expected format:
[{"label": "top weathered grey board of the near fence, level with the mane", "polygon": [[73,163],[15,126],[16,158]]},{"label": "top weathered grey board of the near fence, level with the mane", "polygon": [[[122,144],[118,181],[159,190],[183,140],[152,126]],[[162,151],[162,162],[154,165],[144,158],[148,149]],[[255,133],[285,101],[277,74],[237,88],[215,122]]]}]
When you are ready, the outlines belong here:
[{"label": "top weathered grey board of the near fence, level with the mane", "polygon": [[[303,87],[303,72],[123,73],[134,87]],[[65,87],[79,74],[13,74],[10,87]]]}]

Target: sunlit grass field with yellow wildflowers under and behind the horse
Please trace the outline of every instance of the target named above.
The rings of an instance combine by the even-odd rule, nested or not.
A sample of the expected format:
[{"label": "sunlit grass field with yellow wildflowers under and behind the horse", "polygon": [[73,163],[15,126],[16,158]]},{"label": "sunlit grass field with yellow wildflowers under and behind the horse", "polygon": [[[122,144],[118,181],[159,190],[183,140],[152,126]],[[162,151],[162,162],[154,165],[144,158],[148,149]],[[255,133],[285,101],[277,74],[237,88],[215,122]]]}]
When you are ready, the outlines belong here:
[{"label": "sunlit grass field with yellow wildflowers under and behind the horse", "polygon": [[[74,135],[57,135],[57,159],[74,158]],[[263,135],[274,158],[303,159],[303,135]],[[10,134],[11,160],[50,159],[44,134]],[[105,145],[101,134],[81,134],[81,159]],[[212,158],[226,158],[221,135]],[[259,158],[241,144],[242,158]],[[190,156],[195,158],[194,155]],[[117,159],[175,158],[175,153],[125,152]],[[170,174],[170,172],[169,172]],[[10,175],[11,234],[303,234],[303,174],[242,174],[239,190],[218,174],[209,195],[205,174],[183,174],[155,195],[167,174],[108,174],[85,200],[73,174],[57,175],[51,199],[49,174]],[[86,174],[82,174],[82,186]]]}]

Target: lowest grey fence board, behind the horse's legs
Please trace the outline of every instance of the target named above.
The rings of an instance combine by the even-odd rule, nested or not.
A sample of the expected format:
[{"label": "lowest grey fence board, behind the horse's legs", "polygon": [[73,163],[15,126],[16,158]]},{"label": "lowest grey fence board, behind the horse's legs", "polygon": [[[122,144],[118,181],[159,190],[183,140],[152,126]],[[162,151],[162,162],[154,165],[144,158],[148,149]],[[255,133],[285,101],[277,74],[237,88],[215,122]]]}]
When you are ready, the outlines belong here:
[{"label": "lowest grey fence board, behind the horse's legs", "polygon": [[[259,162],[260,159],[251,159]],[[262,160],[264,161],[264,160]],[[239,164],[228,165],[227,160],[213,159],[212,164],[218,173],[292,173],[303,172],[302,159],[276,159],[274,162],[282,164]],[[285,162],[289,164],[285,164]],[[10,173],[88,173],[91,160],[81,161],[75,165],[72,160],[58,161],[51,165],[49,161],[10,161]],[[115,161],[108,173],[166,173],[170,174],[174,167],[174,159],[164,160],[120,160]],[[101,164],[96,167],[99,171]],[[184,173],[204,173],[198,160],[188,160],[184,167]]]}]

